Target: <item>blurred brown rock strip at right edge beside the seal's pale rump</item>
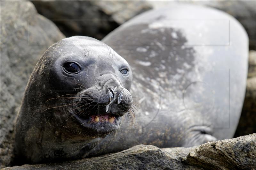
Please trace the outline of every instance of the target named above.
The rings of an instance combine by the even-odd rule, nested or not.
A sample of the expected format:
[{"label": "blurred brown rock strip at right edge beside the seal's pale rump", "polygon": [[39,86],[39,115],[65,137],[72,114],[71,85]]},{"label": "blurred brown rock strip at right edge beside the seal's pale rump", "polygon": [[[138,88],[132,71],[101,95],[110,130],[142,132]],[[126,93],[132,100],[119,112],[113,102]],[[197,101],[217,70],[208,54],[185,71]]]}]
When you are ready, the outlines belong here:
[{"label": "blurred brown rock strip at right edge beside the seal's pale rump", "polygon": [[256,51],[249,55],[249,71],[241,118],[235,137],[256,132]]}]

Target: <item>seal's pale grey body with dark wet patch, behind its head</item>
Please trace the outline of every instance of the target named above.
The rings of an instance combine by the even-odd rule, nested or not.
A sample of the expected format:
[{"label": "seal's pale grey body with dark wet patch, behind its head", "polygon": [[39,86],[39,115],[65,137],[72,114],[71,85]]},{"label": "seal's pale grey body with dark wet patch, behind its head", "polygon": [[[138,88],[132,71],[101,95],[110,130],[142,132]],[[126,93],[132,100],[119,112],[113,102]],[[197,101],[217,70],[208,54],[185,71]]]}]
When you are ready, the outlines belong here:
[{"label": "seal's pale grey body with dark wet patch, behind its head", "polygon": [[104,139],[115,139],[112,152],[136,144],[189,147],[233,137],[248,67],[248,37],[233,17],[177,4],[145,12],[102,41],[130,64],[131,91],[140,105],[134,125],[123,123]]}]

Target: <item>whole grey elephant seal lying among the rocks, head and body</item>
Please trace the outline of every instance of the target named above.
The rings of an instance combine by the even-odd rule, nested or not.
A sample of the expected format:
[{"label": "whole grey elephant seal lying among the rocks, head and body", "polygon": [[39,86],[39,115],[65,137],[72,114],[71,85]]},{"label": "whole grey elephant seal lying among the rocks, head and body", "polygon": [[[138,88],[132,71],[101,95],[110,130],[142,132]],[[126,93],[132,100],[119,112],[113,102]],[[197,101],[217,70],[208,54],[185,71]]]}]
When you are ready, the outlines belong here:
[{"label": "whole grey elephant seal lying among the rocks, head and body", "polygon": [[[83,38],[81,42],[76,39],[66,39],[50,47],[29,80],[16,126],[16,148],[28,161],[85,158],[137,144],[189,147],[233,137],[244,100],[248,58],[248,37],[233,17],[187,4],[145,12],[102,40],[112,45],[130,66],[112,52],[118,61],[113,60],[108,48],[99,46],[99,41],[87,43]],[[73,41],[83,46],[74,45]],[[92,48],[92,45],[99,47]],[[74,55],[78,61],[72,58]],[[91,60],[82,62],[84,55]],[[62,69],[51,70],[52,65],[58,64],[58,60],[53,61],[60,56],[71,57],[61,61],[84,63],[79,67],[84,68],[84,74],[73,79],[72,75],[65,76]],[[123,67],[116,67],[118,63],[126,66],[130,77],[120,73]],[[97,129],[90,127],[89,121],[85,127],[79,118],[66,116],[74,109],[67,104],[68,100],[82,99],[84,87],[92,92],[104,87],[102,82],[109,77],[103,76],[101,80],[101,75],[109,75],[115,85],[111,87],[112,92],[104,88],[104,99],[107,99],[103,100],[100,113],[108,110],[114,96],[115,103],[121,101],[118,99],[122,87],[126,89],[123,96],[129,102],[122,104],[125,101],[122,97],[120,107],[115,105],[118,112],[116,107],[111,107],[111,112],[113,109],[116,115],[122,116],[128,110],[122,106],[133,108],[131,101],[139,104],[134,124],[127,122],[126,116],[119,129],[117,125]],[[119,89],[116,95],[115,86]],[[78,91],[73,92],[75,88]],[[136,96],[131,97],[129,90]],[[78,99],[52,99],[73,93]],[[45,102],[46,99],[51,99],[54,106]],[[95,100],[95,97],[90,95],[86,99]],[[67,106],[58,107],[64,105]],[[56,107],[57,112],[51,107]],[[79,114],[82,108],[78,107]],[[118,114],[119,110],[122,114]],[[92,117],[95,119],[98,121],[96,115]]]}]

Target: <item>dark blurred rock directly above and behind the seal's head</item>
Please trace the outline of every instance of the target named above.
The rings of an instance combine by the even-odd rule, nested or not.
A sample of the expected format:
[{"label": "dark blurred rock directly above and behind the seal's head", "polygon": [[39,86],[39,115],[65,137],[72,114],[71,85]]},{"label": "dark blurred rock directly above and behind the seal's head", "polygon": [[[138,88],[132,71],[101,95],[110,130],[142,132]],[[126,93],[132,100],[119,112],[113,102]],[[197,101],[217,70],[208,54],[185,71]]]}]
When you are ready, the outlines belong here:
[{"label": "dark blurred rock directly above and behind the seal's head", "polygon": [[146,1],[32,1],[67,37],[102,39],[135,15],[151,9]]}]

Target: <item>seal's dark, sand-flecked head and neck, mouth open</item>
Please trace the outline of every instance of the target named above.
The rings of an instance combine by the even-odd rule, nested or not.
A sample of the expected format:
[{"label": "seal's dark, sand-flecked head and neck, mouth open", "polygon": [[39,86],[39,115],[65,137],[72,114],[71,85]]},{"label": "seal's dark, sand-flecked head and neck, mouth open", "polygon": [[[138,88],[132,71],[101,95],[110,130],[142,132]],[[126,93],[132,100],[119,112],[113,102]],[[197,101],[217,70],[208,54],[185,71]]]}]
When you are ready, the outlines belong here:
[{"label": "seal's dark, sand-flecked head and neck, mouth open", "polygon": [[49,47],[28,81],[15,126],[16,164],[78,159],[132,115],[132,70],[90,37]]}]

